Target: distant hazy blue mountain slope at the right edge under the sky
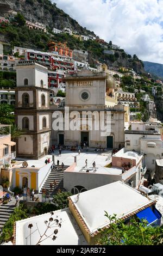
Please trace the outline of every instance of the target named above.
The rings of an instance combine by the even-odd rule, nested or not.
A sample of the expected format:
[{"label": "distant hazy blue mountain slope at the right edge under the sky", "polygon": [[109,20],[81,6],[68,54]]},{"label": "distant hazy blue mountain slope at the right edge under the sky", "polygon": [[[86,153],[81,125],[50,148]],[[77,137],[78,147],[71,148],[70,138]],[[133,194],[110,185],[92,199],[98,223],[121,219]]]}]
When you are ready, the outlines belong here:
[{"label": "distant hazy blue mountain slope at the right edge under the sky", "polygon": [[163,79],[163,65],[153,62],[143,62],[145,70],[157,78]]}]

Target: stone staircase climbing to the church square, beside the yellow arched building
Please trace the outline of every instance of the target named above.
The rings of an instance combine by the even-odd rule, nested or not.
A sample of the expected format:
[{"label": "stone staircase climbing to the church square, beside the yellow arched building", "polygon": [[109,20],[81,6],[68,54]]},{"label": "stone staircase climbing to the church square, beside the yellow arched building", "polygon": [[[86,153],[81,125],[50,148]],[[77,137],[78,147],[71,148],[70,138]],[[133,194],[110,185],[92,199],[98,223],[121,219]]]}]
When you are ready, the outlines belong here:
[{"label": "stone staircase climbing to the church square, beside the yellow arched building", "polygon": [[[64,166],[64,168],[62,168],[61,166],[56,166],[55,169],[51,170],[39,194],[42,194],[42,190],[46,189],[49,191],[49,195],[53,196],[57,193],[59,188],[62,190],[64,188],[64,170],[66,170],[68,167],[69,166]],[[54,180],[57,182],[57,190],[51,191],[50,184]]]}]

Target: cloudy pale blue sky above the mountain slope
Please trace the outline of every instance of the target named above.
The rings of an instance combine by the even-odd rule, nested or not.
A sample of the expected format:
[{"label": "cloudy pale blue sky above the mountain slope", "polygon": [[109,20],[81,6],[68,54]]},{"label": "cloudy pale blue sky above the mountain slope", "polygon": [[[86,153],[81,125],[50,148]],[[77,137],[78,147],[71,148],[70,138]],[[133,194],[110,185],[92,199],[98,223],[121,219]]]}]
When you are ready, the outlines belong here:
[{"label": "cloudy pale blue sky above the mountain slope", "polygon": [[163,64],[163,0],[52,0],[100,38]]}]

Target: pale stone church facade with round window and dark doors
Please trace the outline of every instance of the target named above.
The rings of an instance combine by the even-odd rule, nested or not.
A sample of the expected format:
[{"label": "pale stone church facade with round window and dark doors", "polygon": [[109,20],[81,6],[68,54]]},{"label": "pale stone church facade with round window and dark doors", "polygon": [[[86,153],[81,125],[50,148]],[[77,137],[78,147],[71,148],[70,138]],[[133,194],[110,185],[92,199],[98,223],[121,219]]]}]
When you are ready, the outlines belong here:
[{"label": "pale stone church facade with round window and dark doors", "polygon": [[[64,126],[67,121],[71,123],[75,113],[76,129],[54,131],[52,130],[52,144],[80,145],[86,142],[89,147],[122,148],[124,146],[124,106],[120,103],[112,106],[109,102],[108,93],[114,88],[114,78],[106,72],[95,72],[86,68],[74,75],[66,75],[66,102],[65,107],[69,110],[69,120],[64,117],[65,109],[62,111]],[[101,114],[103,120],[99,120]],[[102,129],[95,129],[96,124],[103,121],[106,125],[107,115],[110,115],[110,127],[103,135]],[[89,125],[89,119],[92,125]],[[55,118],[52,116],[52,124]],[[84,125],[83,125],[84,123]],[[71,126],[71,125],[70,125]]]}]

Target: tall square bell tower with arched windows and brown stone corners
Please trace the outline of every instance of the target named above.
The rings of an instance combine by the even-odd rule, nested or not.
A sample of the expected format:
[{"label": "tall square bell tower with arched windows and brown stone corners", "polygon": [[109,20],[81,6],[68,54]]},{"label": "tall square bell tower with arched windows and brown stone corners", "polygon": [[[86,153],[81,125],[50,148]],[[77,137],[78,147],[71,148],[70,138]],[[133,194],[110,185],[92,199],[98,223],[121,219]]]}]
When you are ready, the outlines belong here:
[{"label": "tall square bell tower with arched windows and brown stone corners", "polygon": [[39,159],[47,154],[51,135],[48,70],[36,62],[18,62],[15,69],[15,123],[24,131],[17,157]]}]

